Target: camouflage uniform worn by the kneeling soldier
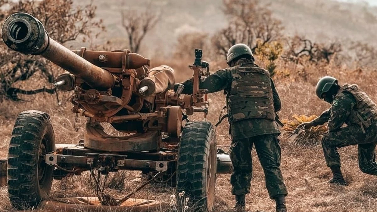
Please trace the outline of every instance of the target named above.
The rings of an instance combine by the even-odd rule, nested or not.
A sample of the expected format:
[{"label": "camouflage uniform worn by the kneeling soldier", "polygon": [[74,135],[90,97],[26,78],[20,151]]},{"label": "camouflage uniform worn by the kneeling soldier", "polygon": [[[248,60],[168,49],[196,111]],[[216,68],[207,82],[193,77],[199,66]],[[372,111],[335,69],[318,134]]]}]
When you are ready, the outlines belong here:
[{"label": "camouflage uniform worn by the kneeling soldier", "polygon": [[[366,174],[377,175],[377,163],[375,162],[375,147],[377,144],[377,123],[375,122],[376,106],[364,92],[361,91],[362,97],[344,89],[346,87],[357,85],[345,85],[334,98],[331,108],[324,111],[320,117],[312,121],[314,126],[328,122],[329,132],[323,135],[322,147],[328,167],[340,166],[340,156],[337,151],[339,147],[358,145],[359,149],[359,167]],[[359,88],[358,88],[359,89]],[[368,100],[369,105],[365,103]],[[363,104],[363,105],[361,105]],[[368,112],[359,112],[360,106],[367,109]],[[355,114],[355,115],[354,115]],[[363,123],[356,116],[365,116]],[[369,119],[369,120],[368,120]],[[343,124],[347,126],[342,127]]]}]

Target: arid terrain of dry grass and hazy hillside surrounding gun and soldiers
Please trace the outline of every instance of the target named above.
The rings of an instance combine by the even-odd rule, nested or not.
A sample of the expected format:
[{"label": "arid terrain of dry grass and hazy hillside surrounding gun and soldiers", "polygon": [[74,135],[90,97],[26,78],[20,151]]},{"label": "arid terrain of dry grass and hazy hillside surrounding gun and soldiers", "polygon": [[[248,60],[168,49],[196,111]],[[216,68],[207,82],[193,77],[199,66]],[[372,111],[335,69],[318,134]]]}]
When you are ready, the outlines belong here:
[{"label": "arid terrain of dry grass and hazy hillside surrounding gun and soldiers", "polygon": [[[0,0],[1,2],[1,0]],[[74,1],[75,5],[86,4],[89,1]],[[99,35],[96,44],[112,40],[112,45],[118,49],[128,48],[126,35],[121,27],[119,12],[113,12],[120,7],[118,1],[95,0],[97,6],[96,18],[103,18],[107,32]],[[126,0],[125,5],[131,8],[144,9],[146,0]],[[218,0],[156,0],[153,9],[161,9],[163,15],[157,26],[145,37],[141,46],[141,54],[151,59],[151,66],[166,64],[176,71],[176,82],[181,82],[192,76],[188,65],[192,58],[173,57],[173,50],[180,33],[205,32],[214,34],[226,25],[225,16],[219,8],[222,1]],[[363,41],[370,46],[377,45],[376,7],[363,4],[352,5],[327,0],[271,0],[271,11],[274,17],[285,26],[283,34],[293,36],[305,35],[316,42],[340,41],[343,52],[347,51],[351,40]],[[330,12],[331,11],[331,12]],[[360,12],[364,11],[364,12]],[[368,11],[365,13],[365,11]],[[365,14],[371,15],[366,17]],[[83,46],[80,40],[69,41],[68,47]],[[1,44],[1,43],[0,43]],[[197,48],[194,46],[194,48]],[[189,51],[189,50],[188,50]],[[272,50],[271,50],[272,51]],[[206,54],[204,52],[204,54]],[[367,54],[367,53],[362,53]],[[349,55],[348,55],[349,56]],[[351,57],[354,55],[351,55]],[[35,57],[38,58],[38,57]],[[347,59],[348,58],[348,59]],[[259,59],[259,60],[258,60]],[[257,55],[256,63],[267,65],[266,58]],[[274,81],[282,99],[282,110],[279,112],[282,120],[295,120],[294,115],[320,115],[330,106],[320,100],[315,94],[317,80],[325,75],[339,79],[339,83],[357,83],[377,101],[377,70],[372,63],[361,66],[359,63],[349,63],[349,57],[331,59],[328,62],[314,63],[308,58],[292,62],[282,58],[274,60],[276,74]],[[268,60],[267,60],[268,61]],[[224,61],[211,60],[211,71],[225,68]],[[1,67],[1,66],[0,66]],[[41,74],[34,74],[27,81],[16,83],[18,88],[35,89],[38,86],[52,87],[51,83],[41,81]],[[2,77],[2,75],[0,75]],[[0,158],[6,158],[12,128],[17,115],[25,110],[40,110],[47,112],[55,130],[56,143],[77,143],[83,138],[84,118],[75,121],[75,114],[70,111],[69,97],[71,93],[57,94],[38,93],[34,95],[18,94],[20,100],[14,101],[2,98],[0,101]],[[215,124],[218,121],[221,108],[225,104],[222,92],[209,95],[210,112],[207,119]],[[201,114],[189,117],[190,120],[203,120]],[[296,120],[297,121],[297,120]],[[230,135],[228,123],[223,121],[216,128],[218,147],[228,151]],[[77,132],[75,131],[77,129]],[[112,129],[108,129],[111,131]],[[283,128],[280,136],[282,147],[281,169],[288,187],[288,210],[290,212],[372,212],[377,211],[377,176],[363,174],[358,167],[357,146],[339,149],[342,159],[342,171],[349,186],[333,186],[326,183],[331,172],[326,167],[320,145],[320,132],[308,130],[304,136],[295,141],[287,140],[291,134],[290,128]],[[251,193],[247,195],[247,209],[250,211],[274,211],[274,201],[270,200],[265,188],[264,174],[257,155],[253,152],[253,180]],[[134,189],[139,182],[133,181],[140,173],[135,171],[118,172],[111,175],[107,186],[110,194],[121,196]],[[230,190],[230,175],[218,175],[216,180],[215,210],[231,211],[234,197]],[[169,201],[173,187],[168,185],[150,184],[138,192],[136,198]],[[54,180],[51,198],[95,196],[95,189],[89,180],[89,173],[58,181]],[[7,187],[0,188],[0,211],[13,211],[8,200]],[[171,209],[171,208],[170,208]],[[158,209],[162,211],[164,209]],[[34,210],[35,211],[35,210]]]}]

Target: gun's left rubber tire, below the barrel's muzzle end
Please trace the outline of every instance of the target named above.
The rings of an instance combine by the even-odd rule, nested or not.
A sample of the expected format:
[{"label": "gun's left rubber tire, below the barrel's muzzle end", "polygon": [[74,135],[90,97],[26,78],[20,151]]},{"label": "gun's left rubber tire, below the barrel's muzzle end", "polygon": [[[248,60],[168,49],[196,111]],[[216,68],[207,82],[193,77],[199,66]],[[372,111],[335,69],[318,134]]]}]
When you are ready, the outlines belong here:
[{"label": "gun's left rubber tire, below the barrel's muzzle end", "polygon": [[12,206],[17,210],[37,206],[48,199],[52,185],[53,166],[46,164],[40,186],[38,163],[40,147],[45,152],[55,151],[55,136],[50,117],[40,111],[23,111],[16,120],[9,144],[7,181]]}]

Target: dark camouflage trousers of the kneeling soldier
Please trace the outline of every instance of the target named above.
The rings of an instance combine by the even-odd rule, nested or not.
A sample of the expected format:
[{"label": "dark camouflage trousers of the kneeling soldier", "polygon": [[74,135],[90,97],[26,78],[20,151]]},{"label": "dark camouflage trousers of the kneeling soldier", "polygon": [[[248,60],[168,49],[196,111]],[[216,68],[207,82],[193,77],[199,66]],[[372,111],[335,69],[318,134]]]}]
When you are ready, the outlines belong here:
[{"label": "dark camouflage trousers of the kneeling soldier", "polygon": [[377,163],[375,161],[377,125],[375,123],[366,129],[365,134],[358,125],[346,126],[338,131],[324,134],[322,148],[327,166],[340,166],[340,155],[337,148],[355,144],[359,149],[360,170],[366,174],[377,175]]}]

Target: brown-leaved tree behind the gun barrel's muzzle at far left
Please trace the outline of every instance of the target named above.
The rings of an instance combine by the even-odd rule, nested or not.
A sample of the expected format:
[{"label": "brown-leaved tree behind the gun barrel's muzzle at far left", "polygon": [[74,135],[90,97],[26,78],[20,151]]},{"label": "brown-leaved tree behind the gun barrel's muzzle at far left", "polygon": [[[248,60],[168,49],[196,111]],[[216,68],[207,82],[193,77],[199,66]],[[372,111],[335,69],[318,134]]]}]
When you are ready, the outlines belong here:
[{"label": "brown-leaved tree behind the gun barrel's muzzle at far left", "polygon": [[[83,7],[73,6],[73,0],[30,0],[9,1],[0,0],[0,25],[5,18],[15,12],[27,12],[45,26],[49,35],[61,44],[77,40],[83,41],[104,29],[102,20],[95,21],[96,7],[92,2]],[[7,8],[7,9],[4,9]],[[97,33],[95,33],[97,31]],[[1,40],[1,39],[0,39]],[[36,73],[45,78],[47,83],[54,81],[54,75],[61,69],[53,66],[46,59],[31,55],[22,55],[11,51],[0,41],[0,97],[19,100],[17,94],[36,94],[39,92],[55,93],[55,89],[43,87],[31,91],[16,88],[15,83],[28,80]],[[19,84],[19,83],[18,83]]]}]

